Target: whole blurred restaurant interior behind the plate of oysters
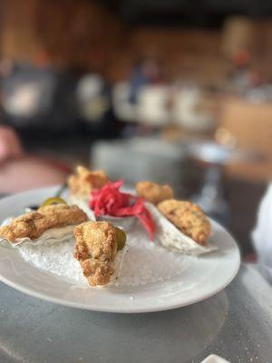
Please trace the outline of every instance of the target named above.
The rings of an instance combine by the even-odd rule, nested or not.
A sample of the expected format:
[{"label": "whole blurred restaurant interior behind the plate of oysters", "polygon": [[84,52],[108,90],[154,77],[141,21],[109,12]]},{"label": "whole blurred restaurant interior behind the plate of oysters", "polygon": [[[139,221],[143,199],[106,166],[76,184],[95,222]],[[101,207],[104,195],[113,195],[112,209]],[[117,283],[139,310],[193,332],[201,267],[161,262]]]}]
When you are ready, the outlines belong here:
[{"label": "whole blurred restaurant interior behind the plate of oysters", "polygon": [[82,163],[168,182],[254,259],[272,173],[272,3],[2,0],[0,192]]}]

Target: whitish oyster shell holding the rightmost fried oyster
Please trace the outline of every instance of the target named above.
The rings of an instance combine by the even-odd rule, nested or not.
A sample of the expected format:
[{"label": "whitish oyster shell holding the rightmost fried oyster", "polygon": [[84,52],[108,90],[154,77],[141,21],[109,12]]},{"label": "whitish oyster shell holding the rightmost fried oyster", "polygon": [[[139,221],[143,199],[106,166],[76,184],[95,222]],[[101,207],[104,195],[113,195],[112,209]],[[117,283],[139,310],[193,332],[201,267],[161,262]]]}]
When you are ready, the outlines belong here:
[{"label": "whitish oyster shell holding the rightmost fried oyster", "polygon": [[173,223],[168,221],[153,204],[146,202],[146,207],[156,223],[157,238],[165,248],[190,255],[201,255],[218,250],[218,247],[211,243],[201,246],[195,240],[186,236]]}]

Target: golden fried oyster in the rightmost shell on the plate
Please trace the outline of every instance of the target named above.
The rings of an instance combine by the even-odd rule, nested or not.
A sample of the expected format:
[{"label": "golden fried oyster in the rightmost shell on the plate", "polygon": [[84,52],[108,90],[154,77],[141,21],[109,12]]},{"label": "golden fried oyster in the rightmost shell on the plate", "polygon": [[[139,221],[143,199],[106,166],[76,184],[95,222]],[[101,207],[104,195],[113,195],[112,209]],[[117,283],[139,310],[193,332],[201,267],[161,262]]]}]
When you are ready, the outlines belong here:
[{"label": "golden fried oyster in the rightmost shell on the plate", "polygon": [[201,208],[190,201],[162,201],[159,211],[171,221],[180,231],[200,245],[208,242],[211,227],[209,219]]}]

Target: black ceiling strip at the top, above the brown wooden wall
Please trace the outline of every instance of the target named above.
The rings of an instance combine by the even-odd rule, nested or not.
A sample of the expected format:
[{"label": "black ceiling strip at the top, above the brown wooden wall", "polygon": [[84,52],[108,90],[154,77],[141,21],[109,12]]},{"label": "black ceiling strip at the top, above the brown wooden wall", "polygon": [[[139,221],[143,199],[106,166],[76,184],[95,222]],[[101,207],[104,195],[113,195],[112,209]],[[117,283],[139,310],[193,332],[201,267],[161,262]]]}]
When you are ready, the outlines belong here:
[{"label": "black ceiling strip at the top, above the brown wooden wall", "polygon": [[229,15],[272,15],[269,0],[102,0],[130,24],[218,27]]}]

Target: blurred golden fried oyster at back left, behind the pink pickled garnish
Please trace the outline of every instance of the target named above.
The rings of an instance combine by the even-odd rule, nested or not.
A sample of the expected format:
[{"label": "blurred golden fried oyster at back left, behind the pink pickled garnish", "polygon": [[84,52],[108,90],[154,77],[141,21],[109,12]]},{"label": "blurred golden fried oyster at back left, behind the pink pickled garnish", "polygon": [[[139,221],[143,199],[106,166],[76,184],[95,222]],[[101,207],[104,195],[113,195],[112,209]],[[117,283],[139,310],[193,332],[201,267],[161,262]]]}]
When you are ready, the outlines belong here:
[{"label": "blurred golden fried oyster at back left, behind the pink pickled garnish", "polygon": [[76,168],[76,174],[68,180],[71,194],[89,197],[93,189],[100,189],[109,182],[107,174],[103,171],[91,172],[83,166]]}]

